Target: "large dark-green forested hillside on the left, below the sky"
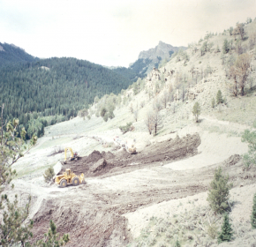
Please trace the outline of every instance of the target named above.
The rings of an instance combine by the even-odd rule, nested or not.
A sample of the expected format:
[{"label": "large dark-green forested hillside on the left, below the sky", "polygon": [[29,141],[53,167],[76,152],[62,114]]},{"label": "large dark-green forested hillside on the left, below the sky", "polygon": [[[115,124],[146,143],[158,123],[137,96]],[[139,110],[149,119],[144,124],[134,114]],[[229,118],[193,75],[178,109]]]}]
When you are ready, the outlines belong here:
[{"label": "large dark-green forested hillside on the left, below the sky", "polygon": [[77,116],[94,97],[118,94],[131,84],[114,71],[75,58],[50,58],[0,69],[4,117],[20,120],[27,138],[43,127]]}]

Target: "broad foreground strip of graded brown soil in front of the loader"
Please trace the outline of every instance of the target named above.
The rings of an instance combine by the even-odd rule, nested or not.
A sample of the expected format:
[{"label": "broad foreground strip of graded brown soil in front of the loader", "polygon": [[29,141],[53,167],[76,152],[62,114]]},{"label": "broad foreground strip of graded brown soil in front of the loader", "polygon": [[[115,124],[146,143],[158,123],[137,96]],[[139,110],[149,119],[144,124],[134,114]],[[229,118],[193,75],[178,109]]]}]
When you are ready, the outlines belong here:
[{"label": "broad foreground strip of graded brown soil in front of the loader", "polygon": [[[34,215],[34,236],[41,237],[49,228],[49,221],[53,220],[60,234],[70,234],[71,242],[67,246],[125,246],[132,235],[124,213],[207,191],[218,166],[229,173],[234,186],[255,183],[256,169],[243,169],[237,154],[222,163],[186,171],[174,171],[156,164],[151,167],[158,173],[156,179],[139,186],[131,185],[127,190],[108,189],[103,181],[52,192],[53,198],[43,200],[41,210]],[[142,174],[142,170],[139,171]],[[131,178],[133,172],[129,173]]]}]

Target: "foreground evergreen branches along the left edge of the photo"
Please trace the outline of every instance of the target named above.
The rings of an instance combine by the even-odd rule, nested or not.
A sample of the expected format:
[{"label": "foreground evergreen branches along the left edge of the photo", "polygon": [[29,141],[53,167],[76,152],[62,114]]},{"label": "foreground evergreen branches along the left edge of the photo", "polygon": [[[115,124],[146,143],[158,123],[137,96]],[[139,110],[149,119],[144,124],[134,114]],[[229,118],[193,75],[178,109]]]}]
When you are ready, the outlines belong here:
[{"label": "foreground evergreen branches along the left edge of the photo", "polygon": [[[26,131],[22,129],[21,138],[17,137],[18,119],[13,119],[12,123],[10,121],[4,126],[4,104],[1,109],[0,192],[3,192],[5,187],[11,183],[13,176],[16,176],[16,170],[12,170],[11,166],[24,155]],[[36,143],[36,139],[35,136],[31,139],[32,146]],[[12,246],[14,243],[21,243],[22,246],[25,246],[27,240],[33,236],[30,231],[33,227],[33,221],[26,221],[29,214],[30,201],[31,198],[29,197],[28,203],[22,208],[18,206],[19,201],[17,195],[13,203],[9,201],[7,195],[2,195],[0,199],[0,214],[3,215],[3,221],[0,224],[1,246]]]}]

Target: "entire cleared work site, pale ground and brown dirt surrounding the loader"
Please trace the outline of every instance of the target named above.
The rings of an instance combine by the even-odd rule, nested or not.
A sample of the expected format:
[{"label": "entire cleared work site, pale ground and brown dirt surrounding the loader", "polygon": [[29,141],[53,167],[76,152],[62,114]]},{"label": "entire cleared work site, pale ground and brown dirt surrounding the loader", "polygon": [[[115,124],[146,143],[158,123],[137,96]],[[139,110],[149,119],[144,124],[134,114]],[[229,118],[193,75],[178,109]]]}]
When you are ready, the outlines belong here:
[{"label": "entire cleared work site, pale ground and brown dirt surrounding the loader", "polygon": [[[189,125],[158,138],[135,131],[132,135],[138,137],[136,144],[141,150],[134,155],[124,150],[110,151],[92,138],[91,126],[101,140],[110,141],[116,133],[120,134],[115,128],[106,131],[99,118],[92,123],[79,118],[67,123],[70,127],[79,126],[80,132],[72,129],[66,135],[64,123],[52,126],[48,130],[52,136],[40,138],[38,145],[15,165],[19,174],[26,172],[14,181],[15,190],[10,194],[18,193],[24,203],[26,195],[33,196],[30,216],[34,219],[36,238],[48,230],[49,221],[53,220],[58,232],[71,235],[68,246],[126,246],[139,236],[152,215],[176,212],[173,205],[179,200],[198,195],[202,198],[199,203],[206,204],[206,196],[200,195],[206,195],[219,165],[230,175],[235,188],[249,188],[251,194],[254,190],[255,172],[243,170],[238,155],[247,151],[247,145],[239,137],[205,131],[205,126],[212,124],[207,119],[204,125]],[[139,143],[139,136],[147,139]],[[49,155],[59,145],[72,146],[80,155],[87,155],[62,168],[72,168],[78,175],[85,173],[87,184],[61,189],[44,183],[43,170],[64,159],[64,153]],[[247,207],[250,206],[252,201]],[[240,208],[237,203],[234,211],[239,212]],[[245,219],[249,215],[250,212],[243,213]]]}]

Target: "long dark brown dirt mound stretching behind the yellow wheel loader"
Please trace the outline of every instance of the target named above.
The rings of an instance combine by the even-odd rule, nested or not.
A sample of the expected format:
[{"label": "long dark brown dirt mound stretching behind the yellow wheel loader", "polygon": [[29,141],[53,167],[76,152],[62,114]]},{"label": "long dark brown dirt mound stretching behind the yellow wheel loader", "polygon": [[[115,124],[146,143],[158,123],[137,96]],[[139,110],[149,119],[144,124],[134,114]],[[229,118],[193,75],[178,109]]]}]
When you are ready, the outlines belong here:
[{"label": "long dark brown dirt mound stretching behind the yellow wheel loader", "polygon": [[136,154],[128,153],[125,149],[115,154],[94,151],[88,156],[81,157],[79,161],[63,163],[63,168],[59,174],[62,174],[66,168],[71,168],[75,174],[84,173],[86,177],[113,176],[113,173],[129,172],[129,170],[134,169],[134,166],[145,168],[159,161],[165,163],[184,159],[197,154],[198,146],[200,146],[200,135],[196,133],[188,134],[184,138],[177,136],[174,139],[154,143]]}]

